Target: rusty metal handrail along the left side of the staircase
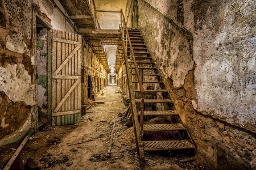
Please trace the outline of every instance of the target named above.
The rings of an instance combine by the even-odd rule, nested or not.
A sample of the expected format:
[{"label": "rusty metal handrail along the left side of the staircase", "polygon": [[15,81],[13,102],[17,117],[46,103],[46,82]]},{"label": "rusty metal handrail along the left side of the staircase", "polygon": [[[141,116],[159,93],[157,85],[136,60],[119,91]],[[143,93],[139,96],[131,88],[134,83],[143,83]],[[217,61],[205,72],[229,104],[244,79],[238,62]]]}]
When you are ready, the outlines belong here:
[{"label": "rusty metal handrail along the left side of the staircase", "polygon": [[[129,94],[130,94],[130,106],[131,106],[131,116],[133,118],[133,126],[134,126],[134,133],[135,133],[135,140],[137,145],[137,151],[139,155],[139,163],[141,167],[144,165],[144,150],[143,150],[143,112],[144,112],[144,98],[145,98],[145,90],[143,88],[141,76],[139,75],[139,70],[137,66],[137,62],[135,60],[133,46],[131,45],[131,40],[127,28],[127,23],[125,20],[125,15],[123,15],[123,10],[121,9],[121,33],[122,33],[122,45],[123,45],[123,54],[125,58],[125,65],[126,65],[126,74],[127,74],[127,82],[129,84]],[[125,36],[126,32],[126,36]],[[129,62],[127,58],[127,46],[130,46],[130,59],[134,63],[135,74],[138,78],[139,83],[139,90],[141,92],[141,114],[140,114],[140,123],[138,120],[138,113],[137,107],[135,103],[135,96],[134,96],[134,89],[132,81],[129,79],[131,77],[131,73],[129,72]],[[131,69],[131,68],[130,68]]]}]

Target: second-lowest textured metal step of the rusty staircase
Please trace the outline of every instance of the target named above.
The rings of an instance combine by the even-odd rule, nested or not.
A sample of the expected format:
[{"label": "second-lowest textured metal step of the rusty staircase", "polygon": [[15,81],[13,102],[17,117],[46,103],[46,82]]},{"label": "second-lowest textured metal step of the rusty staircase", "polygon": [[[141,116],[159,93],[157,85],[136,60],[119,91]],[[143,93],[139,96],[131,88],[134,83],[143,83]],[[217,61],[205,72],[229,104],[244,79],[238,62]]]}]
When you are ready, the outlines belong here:
[{"label": "second-lowest textured metal step of the rusty staircase", "polygon": [[144,124],[144,131],[186,130],[182,124]]}]

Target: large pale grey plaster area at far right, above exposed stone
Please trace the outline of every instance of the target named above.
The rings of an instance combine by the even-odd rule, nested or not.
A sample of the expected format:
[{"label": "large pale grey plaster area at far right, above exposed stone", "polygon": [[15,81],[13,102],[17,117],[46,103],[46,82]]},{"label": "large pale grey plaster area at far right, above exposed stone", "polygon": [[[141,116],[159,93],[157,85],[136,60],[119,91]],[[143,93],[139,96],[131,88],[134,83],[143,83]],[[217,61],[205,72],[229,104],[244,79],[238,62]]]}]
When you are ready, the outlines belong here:
[{"label": "large pale grey plaster area at far right, above exposed stone", "polygon": [[[195,3],[196,98],[205,114],[256,133],[256,1]],[[204,18],[202,17],[204,16]]]}]

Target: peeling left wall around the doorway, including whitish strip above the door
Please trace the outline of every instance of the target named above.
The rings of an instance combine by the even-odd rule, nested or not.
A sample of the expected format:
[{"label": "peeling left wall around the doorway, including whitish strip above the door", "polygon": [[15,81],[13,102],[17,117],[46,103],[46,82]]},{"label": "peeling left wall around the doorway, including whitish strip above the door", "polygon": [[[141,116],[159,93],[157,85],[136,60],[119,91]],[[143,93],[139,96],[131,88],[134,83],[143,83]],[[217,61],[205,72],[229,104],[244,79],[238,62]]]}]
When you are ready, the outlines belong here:
[{"label": "peeling left wall around the doorway, including whitish strip above the door", "polygon": [[53,29],[74,32],[47,0],[0,1],[0,145],[23,138],[38,120],[33,8]]}]

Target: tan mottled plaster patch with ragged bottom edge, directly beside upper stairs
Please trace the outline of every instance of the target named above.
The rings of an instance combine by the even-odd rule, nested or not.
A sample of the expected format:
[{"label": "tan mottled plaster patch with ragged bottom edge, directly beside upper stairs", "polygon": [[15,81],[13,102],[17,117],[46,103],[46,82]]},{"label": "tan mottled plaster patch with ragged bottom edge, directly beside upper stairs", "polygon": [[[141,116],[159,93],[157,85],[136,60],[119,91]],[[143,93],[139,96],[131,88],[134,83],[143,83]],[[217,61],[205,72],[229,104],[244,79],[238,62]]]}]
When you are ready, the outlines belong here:
[{"label": "tan mottled plaster patch with ragged bottom edge, directly beside upper stairs", "polygon": [[146,1],[139,1],[138,11],[139,29],[164,78],[172,78],[175,87],[183,86],[194,64],[192,33]]}]

